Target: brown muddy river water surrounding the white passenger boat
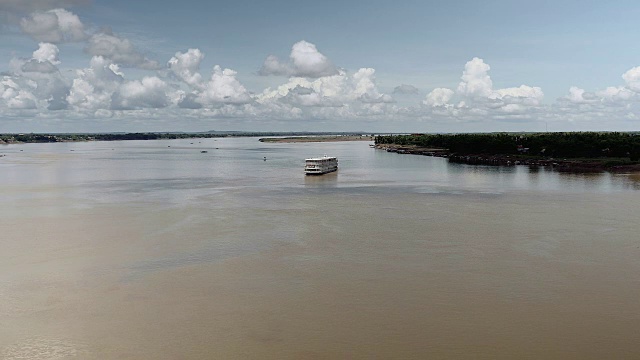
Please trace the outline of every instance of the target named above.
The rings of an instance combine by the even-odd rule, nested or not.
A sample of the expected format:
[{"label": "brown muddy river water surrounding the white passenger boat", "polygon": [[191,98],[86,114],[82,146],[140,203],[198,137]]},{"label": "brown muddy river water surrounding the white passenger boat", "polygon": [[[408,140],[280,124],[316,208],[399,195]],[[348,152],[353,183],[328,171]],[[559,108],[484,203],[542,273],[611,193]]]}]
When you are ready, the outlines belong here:
[{"label": "brown muddy river water surrounding the white passenger boat", "polygon": [[640,358],[634,175],[364,142],[0,153],[2,359]]}]

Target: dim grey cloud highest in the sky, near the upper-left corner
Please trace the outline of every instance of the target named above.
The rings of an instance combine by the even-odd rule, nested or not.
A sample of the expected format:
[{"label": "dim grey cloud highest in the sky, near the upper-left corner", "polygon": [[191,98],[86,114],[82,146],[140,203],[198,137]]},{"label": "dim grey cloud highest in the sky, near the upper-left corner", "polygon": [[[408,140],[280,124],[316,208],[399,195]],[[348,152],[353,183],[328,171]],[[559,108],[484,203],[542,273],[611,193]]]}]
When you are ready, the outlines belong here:
[{"label": "dim grey cloud highest in the sky, near the upper-left corner", "polygon": [[77,15],[65,9],[35,12],[20,20],[22,31],[38,41],[77,42],[88,35]]}]

